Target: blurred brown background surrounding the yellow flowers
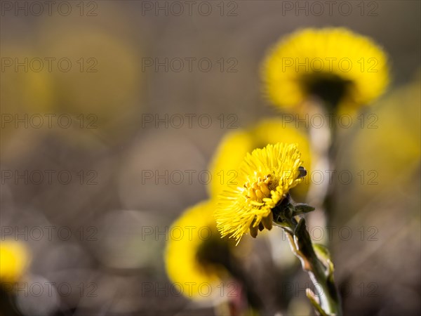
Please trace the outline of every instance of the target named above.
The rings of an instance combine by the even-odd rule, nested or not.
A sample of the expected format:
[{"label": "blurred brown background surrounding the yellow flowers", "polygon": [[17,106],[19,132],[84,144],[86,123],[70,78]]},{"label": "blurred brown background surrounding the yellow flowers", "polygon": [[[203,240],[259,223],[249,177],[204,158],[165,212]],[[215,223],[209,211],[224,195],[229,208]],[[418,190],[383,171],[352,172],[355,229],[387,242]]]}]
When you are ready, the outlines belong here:
[{"label": "blurred brown background surrounding the yellow flowers", "polygon": [[[290,2],[307,6],[308,14],[286,11],[285,2],[195,1],[189,12],[180,1],[179,13],[174,1],[57,1],[50,15],[43,2],[39,14],[34,2],[1,1],[1,240],[23,232],[17,239],[32,254],[30,279],[73,290],[18,295],[22,315],[212,314],[165,290],[145,293],[146,283],[168,287],[168,279],[166,237],[145,235],[143,228],[165,232],[183,209],[206,199],[207,185],[197,175],[230,131],[229,114],[236,128],[279,114],[261,94],[267,48],[300,27],[324,26],[372,37],[392,65],[389,92],[363,110],[379,113],[379,129],[354,124],[339,140],[338,169],[378,173],[376,185],[361,185],[355,176],[334,189],[329,223],[337,230],[329,244],[342,291],[353,290],[344,298],[345,315],[419,315],[420,86],[385,100],[419,74],[420,1],[338,1],[331,15],[321,1],[319,16],[313,1]],[[168,58],[168,71],[155,68],[156,58]],[[17,60],[23,65],[16,68]],[[168,115],[168,128],[155,115]],[[396,138],[387,134],[391,129]],[[408,138],[414,142],[401,142]],[[182,171],[185,178],[167,184],[145,178],[145,171]],[[46,234],[46,226],[53,226],[52,238],[36,240],[32,228]],[[352,239],[338,237],[344,226]],[[57,233],[63,227],[72,233],[68,240]],[[367,240],[373,233],[377,239]],[[298,272],[293,282],[304,288],[305,277]],[[292,298],[306,304],[302,290],[271,296],[276,284],[270,282],[281,279],[262,272],[256,282],[268,292],[268,314],[288,310]]]}]

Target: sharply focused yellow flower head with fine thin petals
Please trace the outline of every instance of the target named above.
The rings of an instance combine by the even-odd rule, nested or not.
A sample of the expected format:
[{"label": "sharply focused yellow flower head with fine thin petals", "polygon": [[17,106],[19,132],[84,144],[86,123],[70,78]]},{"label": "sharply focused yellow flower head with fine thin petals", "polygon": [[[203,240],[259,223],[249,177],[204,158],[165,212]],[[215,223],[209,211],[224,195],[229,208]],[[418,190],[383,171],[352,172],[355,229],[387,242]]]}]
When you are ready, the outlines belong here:
[{"label": "sharply focused yellow flower head with fine thin petals", "polygon": [[227,185],[215,211],[217,228],[222,236],[237,240],[250,230],[272,228],[272,209],[305,176],[297,144],[277,143],[247,154],[236,185]]}]

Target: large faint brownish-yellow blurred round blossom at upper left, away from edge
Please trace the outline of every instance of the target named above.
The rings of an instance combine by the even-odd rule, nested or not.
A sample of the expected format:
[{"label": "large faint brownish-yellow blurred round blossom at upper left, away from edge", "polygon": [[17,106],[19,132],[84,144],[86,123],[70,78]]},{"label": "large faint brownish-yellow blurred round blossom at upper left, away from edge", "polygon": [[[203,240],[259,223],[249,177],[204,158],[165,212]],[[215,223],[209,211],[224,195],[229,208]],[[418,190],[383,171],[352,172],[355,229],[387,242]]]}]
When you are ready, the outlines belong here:
[{"label": "large faint brownish-yellow blurred round blossom at upper left, away from edge", "polygon": [[[140,64],[133,44],[88,22],[60,25],[43,29],[40,48],[60,56],[51,72],[53,112],[64,115],[65,128],[54,129],[54,135],[88,147],[113,145],[133,135],[143,110]],[[61,56],[67,59],[60,64]],[[58,65],[65,70],[58,70]]]}]

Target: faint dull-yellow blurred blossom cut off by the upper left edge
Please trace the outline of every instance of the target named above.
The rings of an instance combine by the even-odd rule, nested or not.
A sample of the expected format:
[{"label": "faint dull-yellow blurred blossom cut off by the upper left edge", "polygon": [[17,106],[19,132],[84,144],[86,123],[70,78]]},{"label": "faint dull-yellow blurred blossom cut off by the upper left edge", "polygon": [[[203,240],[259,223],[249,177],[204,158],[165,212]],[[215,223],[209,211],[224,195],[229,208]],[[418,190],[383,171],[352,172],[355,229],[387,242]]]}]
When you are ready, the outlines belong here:
[{"label": "faint dull-yellow blurred blossom cut off by the upper left edge", "polygon": [[34,71],[41,64],[32,49],[1,44],[1,58],[0,148],[8,160],[33,150],[44,136],[48,127],[45,114],[51,113],[54,89],[51,73]]}]

